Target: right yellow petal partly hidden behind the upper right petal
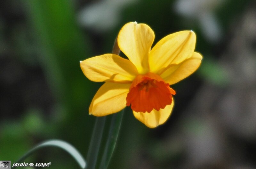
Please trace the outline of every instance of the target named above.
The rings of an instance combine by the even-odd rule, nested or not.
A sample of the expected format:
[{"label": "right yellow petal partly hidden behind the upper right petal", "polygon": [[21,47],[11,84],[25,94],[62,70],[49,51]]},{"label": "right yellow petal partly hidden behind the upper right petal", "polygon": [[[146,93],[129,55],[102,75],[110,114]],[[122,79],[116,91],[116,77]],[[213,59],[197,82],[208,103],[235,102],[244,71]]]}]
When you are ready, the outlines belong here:
[{"label": "right yellow petal partly hidden behind the upper right petal", "polygon": [[180,64],[170,65],[170,68],[166,69],[160,76],[170,85],[177,83],[194,73],[200,66],[202,58],[199,53],[194,52],[191,58],[184,60]]}]

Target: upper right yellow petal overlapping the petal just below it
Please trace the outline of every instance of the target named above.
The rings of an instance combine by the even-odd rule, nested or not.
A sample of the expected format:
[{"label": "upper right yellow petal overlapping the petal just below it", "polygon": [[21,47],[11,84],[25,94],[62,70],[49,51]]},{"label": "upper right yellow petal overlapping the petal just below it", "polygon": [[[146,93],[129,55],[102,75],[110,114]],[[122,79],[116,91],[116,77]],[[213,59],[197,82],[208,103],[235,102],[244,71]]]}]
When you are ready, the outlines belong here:
[{"label": "upper right yellow petal overlapping the petal just below it", "polygon": [[180,31],[164,37],[149,53],[150,72],[160,75],[168,65],[179,64],[190,58],[195,45],[196,35],[193,31]]}]

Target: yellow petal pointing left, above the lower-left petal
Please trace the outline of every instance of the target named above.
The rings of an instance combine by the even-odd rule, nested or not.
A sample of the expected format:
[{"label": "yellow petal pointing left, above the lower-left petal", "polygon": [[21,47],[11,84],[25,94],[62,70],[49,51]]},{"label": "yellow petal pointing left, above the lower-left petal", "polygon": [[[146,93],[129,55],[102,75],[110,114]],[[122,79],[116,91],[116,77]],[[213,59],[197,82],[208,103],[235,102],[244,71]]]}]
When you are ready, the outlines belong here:
[{"label": "yellow petal pointing left, above the lower-left petal", "polygon": [[84,75],[91,81],[129,83],[138,74],[130,60],[115,54],[95,56],[80,62]]}]

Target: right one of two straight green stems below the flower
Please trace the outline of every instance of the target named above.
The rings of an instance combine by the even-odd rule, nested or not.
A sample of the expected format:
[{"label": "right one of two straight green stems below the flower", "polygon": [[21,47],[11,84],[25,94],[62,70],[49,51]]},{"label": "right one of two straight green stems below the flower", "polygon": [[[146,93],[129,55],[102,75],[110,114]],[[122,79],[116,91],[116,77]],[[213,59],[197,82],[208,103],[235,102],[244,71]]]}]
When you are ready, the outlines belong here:
[{"label": "right one of two straight green stems below the flower", "polygon": [[105,146],[103,157],[100,163],[100,169],[106,169],[110,162],[111,156],[116,146],[116,140],[120,131],[124,109],[121,112],[112,115],[111,124],[109,128],[108,140]]}]

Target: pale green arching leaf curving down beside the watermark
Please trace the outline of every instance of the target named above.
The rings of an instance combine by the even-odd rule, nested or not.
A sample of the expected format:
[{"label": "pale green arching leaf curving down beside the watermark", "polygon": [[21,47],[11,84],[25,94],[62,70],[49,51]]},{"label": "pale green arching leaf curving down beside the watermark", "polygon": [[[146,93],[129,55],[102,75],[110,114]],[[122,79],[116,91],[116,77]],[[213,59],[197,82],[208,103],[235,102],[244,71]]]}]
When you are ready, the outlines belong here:
[{"label": "pale green arching leaf curving down beside the watermark", "polygon": [[[76,150],[75,147],[73,147],[71,144],[68,144],[67,142],[61,141],[61,140],[49,140],[45,141],[41,144],[38,144],[36,147],[29,150],[26,154],[24,154],[16,163],[20,163],[23,160],[25,160],[28,156],[30,156],[33,152],[42,149],[44,147],[59,147],[65,151],[67,151],[73,158],[75,158],[76,162],[80,165],[81,168],[85,168],[86,162],[82,155]],[[12,167],[15,168],[15,167]]]}]

